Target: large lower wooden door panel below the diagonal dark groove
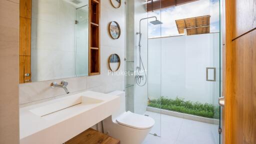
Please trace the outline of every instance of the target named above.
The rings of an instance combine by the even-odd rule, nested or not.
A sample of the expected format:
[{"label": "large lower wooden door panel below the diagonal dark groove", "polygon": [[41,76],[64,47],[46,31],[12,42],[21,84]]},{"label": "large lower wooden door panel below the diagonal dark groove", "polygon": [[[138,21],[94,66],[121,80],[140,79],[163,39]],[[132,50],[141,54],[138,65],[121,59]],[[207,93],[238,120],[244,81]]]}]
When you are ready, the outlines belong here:
[{"label": "large lower wooden door panel below the diagonal dark groove", "polygon": [[256,143],[256,30],[232,42],[233,139]]}]

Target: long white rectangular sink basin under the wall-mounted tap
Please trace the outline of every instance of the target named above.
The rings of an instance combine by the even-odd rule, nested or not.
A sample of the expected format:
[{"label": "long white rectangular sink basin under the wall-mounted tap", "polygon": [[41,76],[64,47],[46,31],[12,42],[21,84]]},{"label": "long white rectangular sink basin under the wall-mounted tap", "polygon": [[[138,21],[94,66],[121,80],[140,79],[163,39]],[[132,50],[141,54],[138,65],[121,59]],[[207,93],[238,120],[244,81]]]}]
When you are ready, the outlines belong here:
[{"label": "long white rectangular sink basin under the wall-mounted tap", "polygon": [[64,143],[119,109],[120,98],[93,91],[19,109],[20,143]]}]

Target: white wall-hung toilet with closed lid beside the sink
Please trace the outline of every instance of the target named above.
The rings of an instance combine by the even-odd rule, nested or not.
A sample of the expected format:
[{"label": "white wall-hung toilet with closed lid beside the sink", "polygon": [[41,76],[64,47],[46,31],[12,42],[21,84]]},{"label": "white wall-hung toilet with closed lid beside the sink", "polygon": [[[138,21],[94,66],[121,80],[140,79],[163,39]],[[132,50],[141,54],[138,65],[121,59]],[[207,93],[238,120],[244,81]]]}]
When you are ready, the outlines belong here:
[{"label": "white wall-hung toilet with closed lid beside the sink", "polygon": [[125,92],[113,91],[108,94],[120,96],[120,109],[103,120],[104,133],[117,138],[122,144],[140,144],[154,125],[154,119],[125,111]]}]

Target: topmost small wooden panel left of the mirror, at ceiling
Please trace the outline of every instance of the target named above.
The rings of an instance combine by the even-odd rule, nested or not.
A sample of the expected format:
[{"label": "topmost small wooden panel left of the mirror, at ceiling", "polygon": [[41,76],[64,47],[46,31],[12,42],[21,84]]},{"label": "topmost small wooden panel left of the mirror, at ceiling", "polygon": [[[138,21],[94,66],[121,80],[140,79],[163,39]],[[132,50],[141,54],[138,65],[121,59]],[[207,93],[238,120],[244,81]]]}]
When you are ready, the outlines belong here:
[{"label": "topmost small wooden panel left of the mirror, at ceiling", "polygon": [[31,0],[19,0],[19,16],[31,18]]}]

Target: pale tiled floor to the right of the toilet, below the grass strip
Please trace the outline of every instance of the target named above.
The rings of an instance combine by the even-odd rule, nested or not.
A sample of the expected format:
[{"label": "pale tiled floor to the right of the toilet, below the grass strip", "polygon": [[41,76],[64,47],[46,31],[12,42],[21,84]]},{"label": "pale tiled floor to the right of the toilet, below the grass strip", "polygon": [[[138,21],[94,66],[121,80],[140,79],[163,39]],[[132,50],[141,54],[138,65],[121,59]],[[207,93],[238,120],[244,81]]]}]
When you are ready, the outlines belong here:
[{"label": "pale tiled floor to the right of the toilet, below the grass strip", "polygon": [[146,111],[155,125],[143,144],[218,144],[218,125]]}]

